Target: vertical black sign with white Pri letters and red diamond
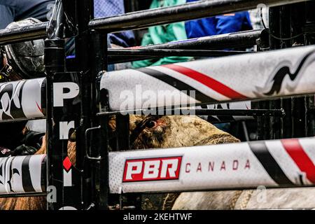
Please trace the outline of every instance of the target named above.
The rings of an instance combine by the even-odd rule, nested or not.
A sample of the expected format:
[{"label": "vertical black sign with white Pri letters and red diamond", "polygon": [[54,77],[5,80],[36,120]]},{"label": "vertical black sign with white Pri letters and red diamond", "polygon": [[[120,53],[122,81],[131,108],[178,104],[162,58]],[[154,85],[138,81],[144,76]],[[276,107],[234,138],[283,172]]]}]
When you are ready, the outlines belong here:
[{"label": "vertical black sign with white Pri letters and red diamond", "polygon": [[[50,79],[52,78],[52,79]],[[48,123],[48,159],[53,166],[48,167],[50,174],[48,186],[56,188],[55,201],[48,202],[53,210],[75,207],[83,209],[85,206],[82,196],[82,173],[80,169],[73,169],[68,155],[69,137],[73,130],[78,130],[81,118],[80,74],[76,72],[55,73],[47,79],[52,86],[48,108],[52,109],[52,121]],[[47,102],[48,103],[48,102]],[[66,197],[64,197],[66,195]]]}]

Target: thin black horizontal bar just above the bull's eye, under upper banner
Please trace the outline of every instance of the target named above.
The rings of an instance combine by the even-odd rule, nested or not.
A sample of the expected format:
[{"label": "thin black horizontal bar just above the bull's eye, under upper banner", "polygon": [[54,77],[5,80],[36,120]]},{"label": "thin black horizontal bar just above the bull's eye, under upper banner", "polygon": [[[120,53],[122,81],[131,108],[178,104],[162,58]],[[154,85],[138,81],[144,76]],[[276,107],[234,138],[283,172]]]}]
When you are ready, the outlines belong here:
[{"label": "thin black horizontal bar just above the bull's eye, under upper banner", "polygon": [[[128,111],[109,111],[97,113],[97,116],[113,116],[113,115],[127,115],[127,114],[143,114],[148,115],[152,114],[152,111],[155,111],[155,114],[158,115],[196,115],[196,116],[276,116],[283,117],[286,113],[283,109],[280,110],[268,110],[268,109],[253,109],[253,110],[234,110],[234,109],[139,109],[139,110],[128,110]],[[153,114],[154,115],[154,114]]]}]

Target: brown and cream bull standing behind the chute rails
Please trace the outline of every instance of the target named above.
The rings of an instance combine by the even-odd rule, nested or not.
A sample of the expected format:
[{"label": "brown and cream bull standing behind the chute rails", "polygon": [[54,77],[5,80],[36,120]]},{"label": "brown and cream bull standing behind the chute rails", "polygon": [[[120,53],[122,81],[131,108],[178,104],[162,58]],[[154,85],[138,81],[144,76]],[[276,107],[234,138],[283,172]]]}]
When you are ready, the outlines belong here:
[{"label": "brown and cream bull standing behind the chute rails", "polygon": [[[109,120],[116,132],[115,118]],[[175,148],[239,142],[196,116],[130,116],[130,144],[133,149]],[[45,141],[36,154],[46,152]],[[69,142],[68,155],[75,164],[76,144]],[[315,207],[313,188],[269,189],[266,200],[258,202],[256,190],[169,193],[144,195],[142,209],[281,209]],[[298,199],[297,199],[298,197]],[[1,209],[46,209],[45,197],[16,197],[0,200]]]}]

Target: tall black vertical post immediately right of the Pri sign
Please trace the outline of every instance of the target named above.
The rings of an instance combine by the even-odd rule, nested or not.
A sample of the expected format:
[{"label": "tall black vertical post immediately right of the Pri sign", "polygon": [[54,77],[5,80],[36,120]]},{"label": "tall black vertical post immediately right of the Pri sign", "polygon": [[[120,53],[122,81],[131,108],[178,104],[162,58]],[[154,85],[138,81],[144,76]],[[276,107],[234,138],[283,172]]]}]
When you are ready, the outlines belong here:
[{"label": "tall black vertical post immediately right of the Pri sign", "polygon": [[80,72],[80,127],[76,134],[76,166],[83,170],[83,204],[84,207],[90,206],[93,200],[93,183],[91,173],[91,161],[85,159],[85,130],[92,127],[92,85],[94,80],[91,74],[91,57],[90,52],[90,32],[88,23],[94,18],[93,1],[92,0],[77,0],[77,27],[78,35],[75,38],[76,43],[76,66]]}]

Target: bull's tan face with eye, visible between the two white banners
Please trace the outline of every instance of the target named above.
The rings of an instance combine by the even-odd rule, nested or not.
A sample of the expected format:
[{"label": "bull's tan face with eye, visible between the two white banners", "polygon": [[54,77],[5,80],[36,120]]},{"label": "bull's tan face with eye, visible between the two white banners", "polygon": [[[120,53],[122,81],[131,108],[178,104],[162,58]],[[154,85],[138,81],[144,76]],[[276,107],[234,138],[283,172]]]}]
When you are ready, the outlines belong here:
[{"label": "bull's tan face with eye, visible between the two white banners", "polygon": [[[114,125],[110,125],[115,129]],[[175,148],[239,141],[197,116],[130,116],[132,149]]]}]

